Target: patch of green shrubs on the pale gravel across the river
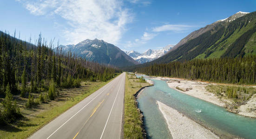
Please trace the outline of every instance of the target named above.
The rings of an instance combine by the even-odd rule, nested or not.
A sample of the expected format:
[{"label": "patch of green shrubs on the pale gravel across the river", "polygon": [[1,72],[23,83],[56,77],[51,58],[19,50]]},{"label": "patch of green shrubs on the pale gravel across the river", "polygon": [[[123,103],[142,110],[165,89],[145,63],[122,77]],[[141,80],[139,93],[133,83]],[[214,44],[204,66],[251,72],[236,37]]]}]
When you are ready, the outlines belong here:
[{"label": "patch of green shrubs on the pale gravel across the river", "polygon": [[237,108],[245,104],[253,95],[256,94],[256,88],[241,85],[208,85],[207,91],[216,94],[220,99],[231,101],[231,108]]}]

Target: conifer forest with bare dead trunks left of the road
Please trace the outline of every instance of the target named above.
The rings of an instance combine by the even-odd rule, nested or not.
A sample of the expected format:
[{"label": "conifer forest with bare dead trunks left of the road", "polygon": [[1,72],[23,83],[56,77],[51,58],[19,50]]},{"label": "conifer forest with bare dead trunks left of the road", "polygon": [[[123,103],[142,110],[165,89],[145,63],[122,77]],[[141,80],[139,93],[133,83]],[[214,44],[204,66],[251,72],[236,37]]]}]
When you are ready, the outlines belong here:
[{"label": "conifer forest with bare dead trunks left of the road", "polygon": [[[30,93],[48,92],[48,98],[54,100],[56,88],[79,87],[81,80],[107,81],[121,72],[53,47],[53,41],[47,44],[41,34],[36,43],[31,44],[15,38],[15,33],[12,37],[0,32],[0,97],[5,97],[0,119],[9,122],[20,117],[13,95],[32,100]],[[29,102],[27,105],[29,107]]]}]

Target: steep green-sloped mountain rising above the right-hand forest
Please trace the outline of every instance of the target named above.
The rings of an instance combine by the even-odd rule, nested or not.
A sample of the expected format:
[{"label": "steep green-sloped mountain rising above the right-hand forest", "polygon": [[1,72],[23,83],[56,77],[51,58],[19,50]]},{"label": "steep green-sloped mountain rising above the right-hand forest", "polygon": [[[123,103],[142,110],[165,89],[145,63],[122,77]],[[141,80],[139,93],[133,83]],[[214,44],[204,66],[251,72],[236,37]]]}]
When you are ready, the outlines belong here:
[{"label": "steep green-sloped mountain rising above the right-hand forest", "polygon": [[151,63],[256,55],[256,12],[238,12],[190,33]]}]

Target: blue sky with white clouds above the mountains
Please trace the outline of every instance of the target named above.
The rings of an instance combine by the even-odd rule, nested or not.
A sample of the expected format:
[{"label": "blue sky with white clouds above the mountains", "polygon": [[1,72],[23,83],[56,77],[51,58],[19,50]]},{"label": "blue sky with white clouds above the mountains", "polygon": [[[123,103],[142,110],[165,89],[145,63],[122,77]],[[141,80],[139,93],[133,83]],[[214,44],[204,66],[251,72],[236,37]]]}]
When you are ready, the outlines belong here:
[{"label": "blue sky with white clouds above the mountains", "polygon": [[239,11],[256,11],[256,0],[0,0],[0,30],[32,43],[41,33],[55,45],[98,38],[144,52]]}]

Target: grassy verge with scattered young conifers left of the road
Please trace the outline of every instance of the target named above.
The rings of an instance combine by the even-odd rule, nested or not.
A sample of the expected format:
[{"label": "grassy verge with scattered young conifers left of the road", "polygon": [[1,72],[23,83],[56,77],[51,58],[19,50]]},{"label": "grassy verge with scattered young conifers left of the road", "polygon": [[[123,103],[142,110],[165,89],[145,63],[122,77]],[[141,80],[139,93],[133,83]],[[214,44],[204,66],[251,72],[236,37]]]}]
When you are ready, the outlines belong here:
[{"label": "grassy verge with scattered young conifers left of the road", "polygon": [[[55,97],[54,100],[50,99],[49,95],[47,95],[49,92],[47,91],[30,93],[29,98],[14,95],[13,97],[16,100],[12,105],[13,111],[16,110],[14,115],[19,116],[20,114],[23,116],[19,116],[20,120],[14,120],[13,122],[5,123],[3,126],[0,126],[0,139],[26,139],[29,135],[49,123],[55,117],[64,113],[79,101],[91,95],[106,83],[107,82],[87,81],[81,82],[79,88],[59,89],[56,90],[59,95]],[[4,101],[4,99],[0,100]],[[2,112],[6,109],[3,104],[0,104]],[[14,106],[16,108],[14,108]]]}]

